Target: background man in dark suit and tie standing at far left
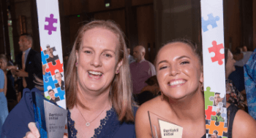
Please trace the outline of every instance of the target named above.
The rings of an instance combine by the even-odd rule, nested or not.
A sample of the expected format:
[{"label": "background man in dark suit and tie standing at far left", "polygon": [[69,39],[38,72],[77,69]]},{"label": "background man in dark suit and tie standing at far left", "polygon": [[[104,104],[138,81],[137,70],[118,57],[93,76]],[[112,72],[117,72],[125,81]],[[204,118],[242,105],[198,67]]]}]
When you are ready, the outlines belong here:
[{"label": "background man in dark suit and tie standing at far left", "polygon": [[8,69],[15,70],[15,76],[19,78],[18,81],[18,102],[23,96],[24,88],[34,88],[34,76],[42,79],[42,61],[41,54],[31,49],[33,45],[33,38],[28,33],[20,35],[18,42],[20,46],[20,54],[16,58],[18,69],[15,66],[10,66]]}]

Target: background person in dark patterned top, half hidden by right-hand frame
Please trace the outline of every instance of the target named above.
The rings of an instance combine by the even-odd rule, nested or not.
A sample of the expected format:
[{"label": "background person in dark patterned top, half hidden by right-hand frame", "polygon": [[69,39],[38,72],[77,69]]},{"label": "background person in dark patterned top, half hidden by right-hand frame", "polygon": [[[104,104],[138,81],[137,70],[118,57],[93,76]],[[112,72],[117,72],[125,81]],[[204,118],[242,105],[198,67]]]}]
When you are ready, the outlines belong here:
[{"label": "background person in dark patterned top, half hidden by right-hand frame", "polygon": [[236,70],[235,62],[236,60],[233,59],[233,54],[230,52],[230,49],[225,48],[226,100],[248,113],[248,107],[244,103],[244,97],[238,89],[236,89],[233,82],[228,79],[230,73]]}]

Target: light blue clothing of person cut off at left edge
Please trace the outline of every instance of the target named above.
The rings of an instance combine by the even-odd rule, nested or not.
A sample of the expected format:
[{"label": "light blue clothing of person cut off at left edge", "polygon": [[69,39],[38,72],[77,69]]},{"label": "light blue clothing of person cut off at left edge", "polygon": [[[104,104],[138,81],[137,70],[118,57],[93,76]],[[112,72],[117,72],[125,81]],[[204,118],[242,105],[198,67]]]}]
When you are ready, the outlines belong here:
[{"label": "light blue clothing of person cut off at left edge", "polygon": [[[0,89],[4,89],[4,71],[1,69],[0,69]],[[1,127],[3,126],[8,113],[9,112],[7,107],[7,99],[4,95],[4,92],[0,92],[0,133],[1,133]]]}]

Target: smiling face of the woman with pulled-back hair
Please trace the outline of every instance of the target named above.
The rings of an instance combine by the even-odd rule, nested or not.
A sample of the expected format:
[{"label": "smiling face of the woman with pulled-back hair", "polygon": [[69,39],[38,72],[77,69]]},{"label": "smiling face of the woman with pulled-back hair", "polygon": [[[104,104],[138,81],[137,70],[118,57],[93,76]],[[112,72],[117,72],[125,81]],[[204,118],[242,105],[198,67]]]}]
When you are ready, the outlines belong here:
[{"label": "smiling face of the woman with pulled-back hair", "polygon": [[165,45],[157,57],[157,80],[161,91],[169,98],[182,99],[200,90],[203,72],[192,48],[176,42]]}]

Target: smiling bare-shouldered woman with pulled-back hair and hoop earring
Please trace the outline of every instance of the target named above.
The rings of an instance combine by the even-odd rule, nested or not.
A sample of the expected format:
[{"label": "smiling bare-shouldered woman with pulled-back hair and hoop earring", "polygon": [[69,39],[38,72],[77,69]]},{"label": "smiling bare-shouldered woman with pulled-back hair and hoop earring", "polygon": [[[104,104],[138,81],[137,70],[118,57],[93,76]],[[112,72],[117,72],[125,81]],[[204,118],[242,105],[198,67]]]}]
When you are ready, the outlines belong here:
[{"label": "smiling bare-shouldered woman with pulled-back hair and hoop earring", "polygon": [[[156,137],[157,118],[182,127],[182,137],[206,137],[202,54],[197,45],[181,39],[165,44],[156,57],[161,96],[141,105],[136,113],[136,136]],[[148,114],[157,115],[149,120]],[[235,105],[227,103],[228,137],[255,137],[256,121]],[[152,115],[151,114],[151,115]],[[150,122],[151,121],[151,122]],[[154,123],[159,124],[159,123]],[[165,128],[164,128],[165,129]],[[168,128],[167,131],[170,131]],[[159,134],[159,131],[154,134]],[[160,137],[159,135],[157,137]]]}]

